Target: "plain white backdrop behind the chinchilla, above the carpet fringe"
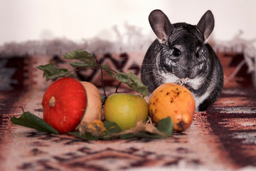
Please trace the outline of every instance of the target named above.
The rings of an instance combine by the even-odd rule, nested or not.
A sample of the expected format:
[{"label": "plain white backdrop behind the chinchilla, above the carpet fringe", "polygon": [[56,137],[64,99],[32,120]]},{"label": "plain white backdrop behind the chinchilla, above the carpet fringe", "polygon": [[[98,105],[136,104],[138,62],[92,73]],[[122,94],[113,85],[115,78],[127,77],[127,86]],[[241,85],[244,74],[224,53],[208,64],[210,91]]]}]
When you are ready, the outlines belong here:
[{"label": "plain white backdrop behind the chinchilla, above the carpet fringe", "polygon": [[0,45],[53,38],[116,41],[114,29],[125,33],[127,26],[152,36],[148,16],[154,9],[164,11],[172,23],[189,24],[197,24],[210,9],[214,39],[230,40],[239,31],[251,39],[256,37],[255,6],[254,0],[0,0]]}]

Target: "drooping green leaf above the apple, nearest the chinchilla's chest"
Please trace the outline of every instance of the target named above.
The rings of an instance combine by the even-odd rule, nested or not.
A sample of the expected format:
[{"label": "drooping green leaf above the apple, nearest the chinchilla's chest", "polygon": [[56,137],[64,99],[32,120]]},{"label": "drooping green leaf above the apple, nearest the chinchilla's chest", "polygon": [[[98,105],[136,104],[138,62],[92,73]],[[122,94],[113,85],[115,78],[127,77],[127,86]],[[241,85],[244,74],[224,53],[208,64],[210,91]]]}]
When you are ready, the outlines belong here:
[{"label": "drooping green leaf above the apple, nearest the chinchilla's chest", "polygon": [[117,80],[121,83],[125,83],[133,90],[146,96],[149,94],[148,88],[142,83],[142,81],[132,71],[129,73],[117,72]]}]

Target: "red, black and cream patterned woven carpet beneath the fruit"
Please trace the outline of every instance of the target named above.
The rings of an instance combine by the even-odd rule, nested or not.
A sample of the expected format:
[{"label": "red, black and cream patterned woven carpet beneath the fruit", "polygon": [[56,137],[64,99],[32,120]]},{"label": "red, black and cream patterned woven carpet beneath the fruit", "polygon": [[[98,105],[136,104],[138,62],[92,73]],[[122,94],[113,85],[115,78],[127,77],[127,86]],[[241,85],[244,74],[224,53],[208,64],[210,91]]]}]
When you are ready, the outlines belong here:
[{"label": "red, black and cream patterned woven carpet beneath the fruit", "polygon": [[[242,56],[218,55],[227,78]],[[120,57],[117,56],[119,61],[127,59]],[[118,64],[113,57],[101,58],[102,63],[103,58],[111,59],[115,68],[139,71],[139,65],[132,61]],[[0,85],[0,170],[256,170],[256,91],[246,66],[225,83],[213,106],[195,113],[191,127],[183,133],[156,140],[85,141],[71,135],[41,133],[10,122],[11,117],[21,115],[21,106],[25,111],[43,115],[41,100],[50,83],[41,78],[42,73],[35,66],[52,59],[20,56],[0,61],[6,70],[16,68],[9,77],[9,86],[7,82]],[[4,78],[6,71],[1,70]],[[89,76],[86,79],[96,85],[99,83],[97,73],[80,75]],[[108,83],[110,92],[116,83]]]}]

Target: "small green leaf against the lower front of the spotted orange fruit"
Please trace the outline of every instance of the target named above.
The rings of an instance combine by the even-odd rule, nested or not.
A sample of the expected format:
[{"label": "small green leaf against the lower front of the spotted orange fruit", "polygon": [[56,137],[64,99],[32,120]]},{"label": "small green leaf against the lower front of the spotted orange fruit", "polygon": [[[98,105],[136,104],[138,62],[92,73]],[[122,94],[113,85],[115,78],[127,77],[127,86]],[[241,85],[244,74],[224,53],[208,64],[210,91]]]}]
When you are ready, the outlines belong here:
[{"label": "small green leaf against the lower front of the spotted orange fruit", "polygon": [[162,133],[165,133],[166,137],[169,137],[174,130],[174,123],[170,117],[159,120],[159,123],[156,127]]}]

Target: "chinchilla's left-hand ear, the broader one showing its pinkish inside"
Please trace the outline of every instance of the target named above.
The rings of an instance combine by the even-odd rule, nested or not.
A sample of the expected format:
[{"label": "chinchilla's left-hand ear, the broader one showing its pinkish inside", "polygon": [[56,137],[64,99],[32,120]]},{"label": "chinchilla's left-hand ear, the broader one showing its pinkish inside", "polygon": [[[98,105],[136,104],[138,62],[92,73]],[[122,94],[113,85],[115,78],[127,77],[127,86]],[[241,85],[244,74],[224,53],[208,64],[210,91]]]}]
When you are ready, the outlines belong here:
[{"label": "chinchilla's left-hand ear, the broader one showing its pinkish inside", "polygon": [[167,16],[159,9],[151,11],[149,14],[149,24],[161,43],[167,41],[167,38],[169,38],[174,29]]}]

